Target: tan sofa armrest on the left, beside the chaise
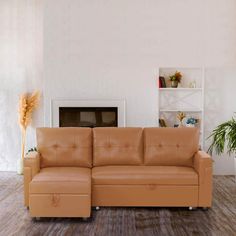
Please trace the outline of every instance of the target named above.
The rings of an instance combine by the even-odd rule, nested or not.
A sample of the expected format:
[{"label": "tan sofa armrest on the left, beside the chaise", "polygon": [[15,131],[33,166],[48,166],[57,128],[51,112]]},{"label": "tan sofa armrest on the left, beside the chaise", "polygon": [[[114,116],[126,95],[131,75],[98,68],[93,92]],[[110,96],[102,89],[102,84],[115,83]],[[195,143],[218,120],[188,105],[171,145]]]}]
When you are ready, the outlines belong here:
[{"label": "tan sofa armrest on the left, beside the chaise", "polygon": [[30,152],[24,158],[24,203],[29,206],[29,184],[40,170],[40,155]]}]

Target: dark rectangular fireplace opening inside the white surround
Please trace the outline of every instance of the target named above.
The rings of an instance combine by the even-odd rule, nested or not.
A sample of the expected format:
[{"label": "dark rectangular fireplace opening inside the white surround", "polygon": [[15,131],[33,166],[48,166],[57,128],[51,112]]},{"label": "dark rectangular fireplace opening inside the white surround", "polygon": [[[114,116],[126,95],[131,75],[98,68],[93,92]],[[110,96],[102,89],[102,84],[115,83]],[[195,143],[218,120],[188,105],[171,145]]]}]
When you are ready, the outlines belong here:
[{"label": "dark rectangular fireplace opening inside the white surround", "polygon": [[60,107],[60,127],[117,127],[117,107]]}]

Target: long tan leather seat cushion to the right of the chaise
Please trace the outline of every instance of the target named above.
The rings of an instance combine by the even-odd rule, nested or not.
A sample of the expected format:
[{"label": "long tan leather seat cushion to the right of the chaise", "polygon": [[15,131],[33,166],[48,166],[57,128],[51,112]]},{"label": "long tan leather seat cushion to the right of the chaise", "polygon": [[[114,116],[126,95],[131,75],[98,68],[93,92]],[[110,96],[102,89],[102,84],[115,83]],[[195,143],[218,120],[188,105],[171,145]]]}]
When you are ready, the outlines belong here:
[{"label": "long tan leather seat cushion to the right of the chaise", "polygon": [[198,185],[198,174],[180,166],[105,166],[92,169],[94,185]]}]

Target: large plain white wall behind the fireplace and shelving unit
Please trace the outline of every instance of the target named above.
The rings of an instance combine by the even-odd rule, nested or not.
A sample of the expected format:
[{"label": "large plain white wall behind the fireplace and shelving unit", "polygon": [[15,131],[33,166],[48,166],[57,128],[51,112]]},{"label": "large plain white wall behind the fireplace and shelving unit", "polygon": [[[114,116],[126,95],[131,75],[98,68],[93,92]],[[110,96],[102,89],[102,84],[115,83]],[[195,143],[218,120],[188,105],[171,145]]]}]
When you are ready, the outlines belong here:
[{"label": "large plain white wall behind the fireplace and shelving unit", "polygon": [[[166,66],[207,67],[208,80],[225,81],[212,96],[227,91],[227,103],[236,76],[235,12],[234,0],[44,0],[45,125],[50,99],[65,97],[125,99],[128,126],[155,126],[156,76]],[[217,123],[235,107],[219,102],[214,109],[223,109]],[[217,160],[215,173],[233,173],[227,163]]]}]

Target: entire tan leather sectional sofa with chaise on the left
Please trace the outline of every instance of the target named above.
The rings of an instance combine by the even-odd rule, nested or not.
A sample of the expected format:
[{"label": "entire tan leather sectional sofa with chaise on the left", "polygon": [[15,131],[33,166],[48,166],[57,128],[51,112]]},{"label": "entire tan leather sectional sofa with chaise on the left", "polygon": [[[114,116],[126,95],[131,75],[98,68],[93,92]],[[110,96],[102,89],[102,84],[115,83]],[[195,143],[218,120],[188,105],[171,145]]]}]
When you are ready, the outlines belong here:
[{"label": "entire tan leather sectional sofa with chaise on the left", "polygon": [[91,206],[210,207],[212,159],[197,128],[38,128],[24,160],[32,217],[89,217]]}]

